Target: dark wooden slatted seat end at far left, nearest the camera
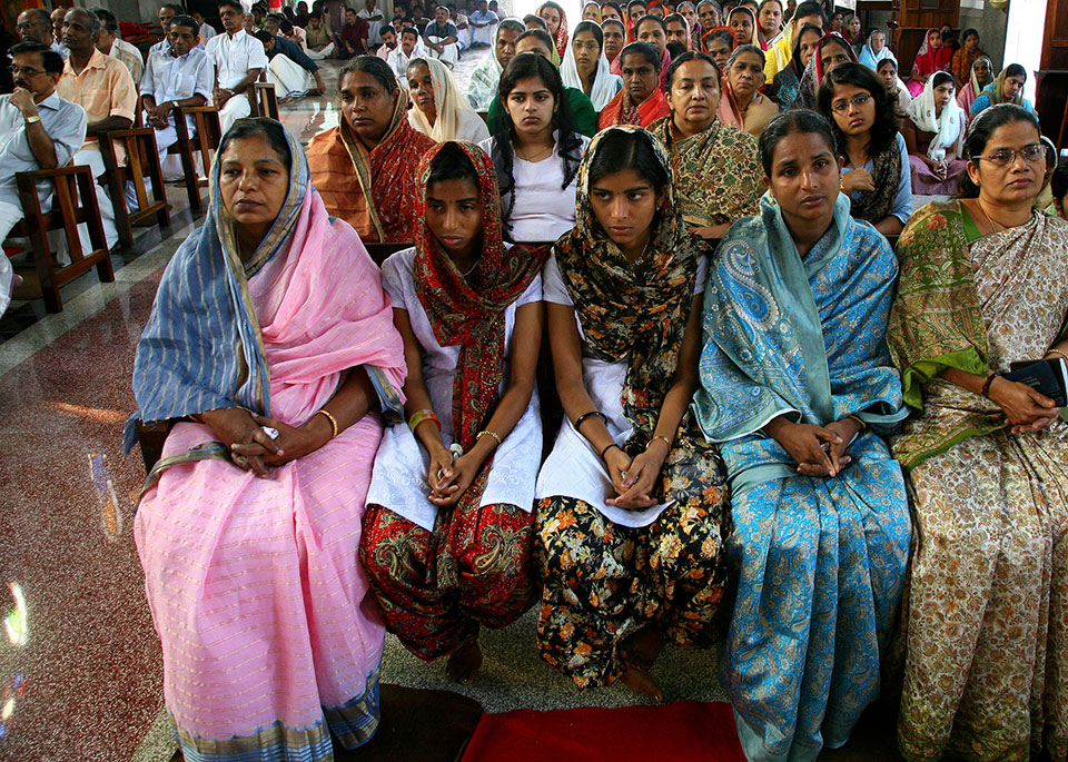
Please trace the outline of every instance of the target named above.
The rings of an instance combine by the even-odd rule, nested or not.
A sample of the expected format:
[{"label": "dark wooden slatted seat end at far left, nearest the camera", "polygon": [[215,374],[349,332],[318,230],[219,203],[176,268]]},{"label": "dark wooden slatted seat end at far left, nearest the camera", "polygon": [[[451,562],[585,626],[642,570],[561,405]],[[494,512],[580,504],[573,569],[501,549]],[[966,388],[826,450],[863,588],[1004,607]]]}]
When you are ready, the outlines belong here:
[{"label": "dark wooden slatted seat end at far left, nearest the camera", "polygon": [[[41,199],[37,195],[37,181],[51,180],[56,186],[52,195],[52,210],[41,210]],[[115,280],[108,244],[103,237],[103,224],[97,206],[96,180],[92,170],[86,166],[39,169],[32,172],[16,172],[14,181],[22,201],[23,219],[16,225],[10,236],[28,237],[33,253],[33,264],[41,281],[41,295],[44,308],[50,313],[63,309],[60,297],[61,286],[79,277],[96,266],[97,275],[103,283]],[[81,204],[78,204],[78,196]],[[88,255],[81,251],[78,225],[85,222],[89,228],[89,241],[92,250]],[[51,248],[48,245],[50,230],[63,230],[67,250],[70,251],[69,265],[52,263]]]}]

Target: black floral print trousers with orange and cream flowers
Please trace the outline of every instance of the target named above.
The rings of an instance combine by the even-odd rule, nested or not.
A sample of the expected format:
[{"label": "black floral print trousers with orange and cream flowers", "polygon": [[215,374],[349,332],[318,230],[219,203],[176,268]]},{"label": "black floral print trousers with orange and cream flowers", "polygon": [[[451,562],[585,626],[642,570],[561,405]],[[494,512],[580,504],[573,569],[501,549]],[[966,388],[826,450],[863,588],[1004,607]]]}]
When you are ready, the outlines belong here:
[{"label": "black floral print trousers with orange and cream flowers", "polygon": [[631,528],[578,499],[542,499],[534,548],[542,659],[590,687],[625,670],[616,650],[629,625],[655,623],[669,643],[709,647],[724,590],[720,505],[674,503]]}]

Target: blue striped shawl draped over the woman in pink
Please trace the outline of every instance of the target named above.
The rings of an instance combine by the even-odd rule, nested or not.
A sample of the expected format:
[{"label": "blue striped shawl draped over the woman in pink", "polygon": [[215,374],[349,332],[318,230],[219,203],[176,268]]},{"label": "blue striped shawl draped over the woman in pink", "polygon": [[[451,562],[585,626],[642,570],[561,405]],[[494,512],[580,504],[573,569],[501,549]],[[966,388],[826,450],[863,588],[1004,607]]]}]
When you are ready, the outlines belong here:
[{"label": "blue striped shawl draped over the woman in pink", "polygon": [[[234,219],[218,190],[221,169],[216,154],[204,225],[167,265],[137,345],[134,395],[138,410],[126,423],[127,452],[137,443],[138,420],[181,418],[222,407],[270,416],[270,375],[248,281],[286,249],[305,196],[315,192],[304,148],[288,130],[285,133],[293,157],[289,190],[270,230],[246,263],[238,255]],[[400,410],[385,376],[374,367],[367,374],[383,410],[387,415]],[[226,448],[216,444],[189,457],[225,455]],[[157,464],[157,469],[175,465],[171,461]]]}]

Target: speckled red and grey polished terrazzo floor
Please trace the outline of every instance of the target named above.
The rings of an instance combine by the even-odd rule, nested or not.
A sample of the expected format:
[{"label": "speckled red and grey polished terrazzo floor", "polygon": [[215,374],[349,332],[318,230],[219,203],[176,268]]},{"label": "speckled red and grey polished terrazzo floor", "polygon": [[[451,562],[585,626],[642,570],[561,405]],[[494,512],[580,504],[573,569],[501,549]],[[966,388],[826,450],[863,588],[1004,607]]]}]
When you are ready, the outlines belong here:
[{"label": "speckled red and grey polished terrazzo floor", "polygon": [[[461,61],[461,87],[483,55]],[[338,68],[325,67],[332,91]],[[305,142],[337,119],[330,97],[283,107],[283,120]],[[0,442],[11,445],[0,458],[2,760],[164,761],[175,754],[131,534],[144,465],[137,452],[121,452],[120,437],[134,409],[134,349],[162,268],[202,219],[189,214],[184,189],[167,192],[171,229],[141,229],[136,251],[113,255],[116,283],[88,274],[63,289],[61,314],[46,315],[37,299],[14,303],[0,318]],[[451,690],[491,712],[635,703],[621,685],[578,692],[545,666],[534,651],[533,616],[485,633],[485,666],[471,685],[447,683],[443,664],[424,664],[392,636],[383,680]],[[712,652],[669,651],[655,673],[669,701],[725,697]],[[414,701],[433,706],[442,696],[448,700],[419,693]],[[464,716],[456,720],[463,732],[469,733],[464,723],[472,706],[456,714]],[[829,756],[893,759],[884,725],[877,720],[850,749]],[[414,759],[403,751],[403,733],[393,736],[388,752],[379,744],[352,759]]]}]

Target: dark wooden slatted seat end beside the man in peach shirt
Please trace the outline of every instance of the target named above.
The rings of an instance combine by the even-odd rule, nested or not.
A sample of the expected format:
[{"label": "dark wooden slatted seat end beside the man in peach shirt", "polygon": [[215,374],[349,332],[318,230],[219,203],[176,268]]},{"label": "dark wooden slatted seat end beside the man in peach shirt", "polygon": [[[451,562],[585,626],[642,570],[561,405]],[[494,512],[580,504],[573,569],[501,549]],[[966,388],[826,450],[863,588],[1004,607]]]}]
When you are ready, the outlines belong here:
[{"label": "dark wooden slatted seat end beside the man in peach shirt", "polygon": [[[121,166],[116,156],[115,144],[126,148],[126,166]],[[164,171],[159,166],[159,152],[156,150],[156,130],[148,127],[129,130],[110,130],[100,136],[100,155],[107,169],[108,192],[115,207],[115,227],[123,246],[134,247],[134,225],[144,219],[156,217],[160,227],[170,227],[170,207],[164,190]],[[145,190],[145,176],[152,182],[154,204],[149,204]],[[137,194],[137,211],[130,212],[126,206],[126,181],[134,184]]]}]

